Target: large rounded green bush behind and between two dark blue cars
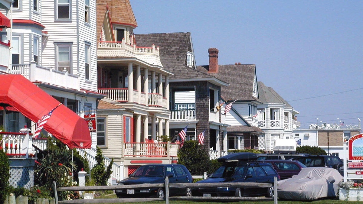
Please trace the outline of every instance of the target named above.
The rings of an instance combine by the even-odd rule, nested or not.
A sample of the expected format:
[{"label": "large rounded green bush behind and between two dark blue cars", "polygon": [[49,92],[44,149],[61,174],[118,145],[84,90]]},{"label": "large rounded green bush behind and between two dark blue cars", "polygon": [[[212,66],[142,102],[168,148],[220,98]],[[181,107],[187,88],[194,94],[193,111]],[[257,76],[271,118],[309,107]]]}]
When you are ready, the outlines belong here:
[{"label": "large rounded green bush behind and between two dark blue cars", "polygon": [[192,175],[203,175],[204,172],[209,172],[211,160],[209,155],[198,145],[196,140],[188,140],[184,142],[183,148],[178,152],[179,164],[183,164]]}]

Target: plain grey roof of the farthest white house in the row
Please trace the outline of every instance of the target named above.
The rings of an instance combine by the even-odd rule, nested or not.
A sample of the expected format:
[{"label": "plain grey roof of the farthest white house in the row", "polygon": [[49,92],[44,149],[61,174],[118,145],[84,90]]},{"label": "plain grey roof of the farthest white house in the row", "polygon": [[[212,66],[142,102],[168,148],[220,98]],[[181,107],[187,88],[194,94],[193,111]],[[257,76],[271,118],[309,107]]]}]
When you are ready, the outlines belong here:
[{"label": "plain grey roof of the farthest white house in the row", "polygon": [[289,103],[285,101],[284,98],[280,96],[275,90],[273,90],[271,87],[267,87],[264,83],[261,81],[257,82],[258,86],[258,94],[260,97],[260,100],[263,103],[283,103],[286,106],[285,107],[291,107]]}]

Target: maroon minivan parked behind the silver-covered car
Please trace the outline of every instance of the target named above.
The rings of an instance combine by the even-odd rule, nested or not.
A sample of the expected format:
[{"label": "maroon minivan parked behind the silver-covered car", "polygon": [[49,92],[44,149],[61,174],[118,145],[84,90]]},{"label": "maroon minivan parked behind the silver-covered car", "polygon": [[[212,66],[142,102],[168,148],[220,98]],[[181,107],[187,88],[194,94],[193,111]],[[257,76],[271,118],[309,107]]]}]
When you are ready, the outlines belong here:
[{"label": "maroon minivan parked behind the silver-covered car", "polygon": [[262,160],[260,163],[270,163],[277,171],[277,174],[280,175],[281,180],[291,178],[293,175],[299,174],[302,168],[306,168],[298,160]]}]

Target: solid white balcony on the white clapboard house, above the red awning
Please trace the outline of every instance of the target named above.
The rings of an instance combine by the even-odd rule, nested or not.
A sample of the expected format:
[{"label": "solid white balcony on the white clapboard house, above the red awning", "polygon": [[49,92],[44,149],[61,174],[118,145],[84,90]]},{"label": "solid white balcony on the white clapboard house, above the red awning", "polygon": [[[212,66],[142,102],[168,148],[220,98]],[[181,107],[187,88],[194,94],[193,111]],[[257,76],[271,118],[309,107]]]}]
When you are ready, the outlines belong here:
[{"label": "solid white balcony on the white clapboard house, above the red awning", "polygon": [[53,68],[30,64],[13,64],[11,74],[21,74],[32,82],[42,82],[49,85],[60,86],[66,89],[79,90],[79,76],[69,74],[67,71],[58,71]]}]

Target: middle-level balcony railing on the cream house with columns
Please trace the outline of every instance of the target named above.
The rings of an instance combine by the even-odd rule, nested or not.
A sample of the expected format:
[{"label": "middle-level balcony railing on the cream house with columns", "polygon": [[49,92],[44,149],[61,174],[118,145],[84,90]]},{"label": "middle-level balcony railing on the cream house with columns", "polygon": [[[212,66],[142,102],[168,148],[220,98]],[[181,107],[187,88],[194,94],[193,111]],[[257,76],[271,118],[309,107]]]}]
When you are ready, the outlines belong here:
[{"label": "middle-level balcony railing on the cream house with columns", "polygon": [[110,98],[114,101],[118,102],[134,102],[147,104],[147,106],[155,106],[155,107],[165,107],[167,108],[166,98],[163,98],[161,94],[156,93],[148,93],[147,102],[146,93],[141,92],[139,98],[139,91],[132,90],[132,99],[129,100],[128,89],[98,89],[98,93],[105,94],[107,98]]}]

